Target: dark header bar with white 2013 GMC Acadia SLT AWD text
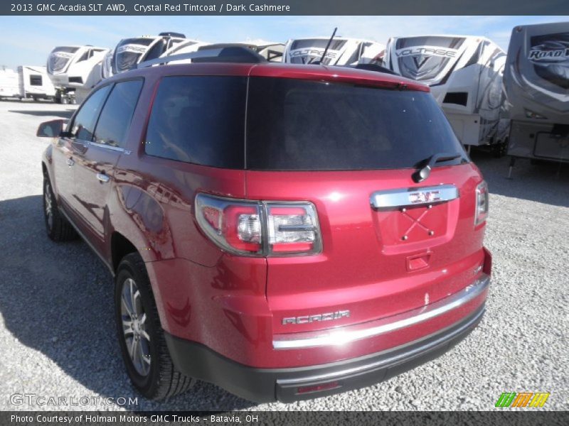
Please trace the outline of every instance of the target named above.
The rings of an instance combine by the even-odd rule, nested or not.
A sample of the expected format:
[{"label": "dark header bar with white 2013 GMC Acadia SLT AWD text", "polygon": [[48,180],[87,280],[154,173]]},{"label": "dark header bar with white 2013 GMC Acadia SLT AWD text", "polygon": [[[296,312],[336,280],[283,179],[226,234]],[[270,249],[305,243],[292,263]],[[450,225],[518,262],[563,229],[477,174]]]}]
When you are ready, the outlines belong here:
[{"label": "dark header bar with white 2013 GMC Acadia SLT AWD text", "polygon": [[567,0],[2,0],[0,15],[562,15]]}]

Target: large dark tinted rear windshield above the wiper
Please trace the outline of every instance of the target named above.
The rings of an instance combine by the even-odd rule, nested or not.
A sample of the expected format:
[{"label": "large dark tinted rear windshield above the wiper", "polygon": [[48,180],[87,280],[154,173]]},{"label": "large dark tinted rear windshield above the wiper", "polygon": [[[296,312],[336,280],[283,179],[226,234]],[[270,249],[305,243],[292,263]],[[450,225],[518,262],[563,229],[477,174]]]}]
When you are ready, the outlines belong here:
[{"label": "large dark tinted rear windshield above the wiper", "polygon": [[249,87],[253,170],[411,168],[435,153],[464,155],[427,92],[260,77]]}]

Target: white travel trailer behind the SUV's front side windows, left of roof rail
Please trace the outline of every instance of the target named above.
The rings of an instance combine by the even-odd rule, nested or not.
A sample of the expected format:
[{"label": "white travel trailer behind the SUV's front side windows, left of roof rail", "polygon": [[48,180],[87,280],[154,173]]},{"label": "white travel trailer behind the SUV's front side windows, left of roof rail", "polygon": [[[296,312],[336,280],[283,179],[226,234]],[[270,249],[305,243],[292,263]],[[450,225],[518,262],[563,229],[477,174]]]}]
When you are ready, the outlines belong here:
[{"label": "white travel trailer behind the SUV's front side windows, left of roof rail", "polygon": [[[59,46],[48,57],[48,75],[56,87],[55,101],[75,103],[101,80],[101,64],[109,49],[85,46]],[[80,99],[78,99],[80,100]]]}]

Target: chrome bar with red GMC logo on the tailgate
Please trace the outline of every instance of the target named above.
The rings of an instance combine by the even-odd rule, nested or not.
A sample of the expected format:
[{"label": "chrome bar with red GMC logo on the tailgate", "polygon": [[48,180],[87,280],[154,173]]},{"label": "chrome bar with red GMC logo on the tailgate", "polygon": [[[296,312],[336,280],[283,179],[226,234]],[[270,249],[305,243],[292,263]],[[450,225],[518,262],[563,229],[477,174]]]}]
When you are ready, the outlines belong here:
[{"label": "chrome bar with red GMC logo on the tailgate", "polygon": [[[434,198],[432,198],[433,195],[435,196]],[[417,197],[417,201],[411,200],[412,196]],[[437,185],[431,187],[377,191],[373,192],[369,202],[374,209],[388,209],[393,207],[435,204],[437,202],[454,200],[458,197],[458,188],[454,185]]]}]

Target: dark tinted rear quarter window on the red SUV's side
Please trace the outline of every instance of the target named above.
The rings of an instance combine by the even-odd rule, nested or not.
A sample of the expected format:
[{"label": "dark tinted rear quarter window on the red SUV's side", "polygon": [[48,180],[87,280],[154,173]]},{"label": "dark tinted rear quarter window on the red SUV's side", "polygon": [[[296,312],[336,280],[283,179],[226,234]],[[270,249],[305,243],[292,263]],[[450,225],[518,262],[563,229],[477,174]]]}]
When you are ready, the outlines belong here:
[{"label": "dark tinted rear quarter window on the red SUV's side", "polygon": [[164,77],[152,106],[149,155],[243,168],[245,77]]}]

